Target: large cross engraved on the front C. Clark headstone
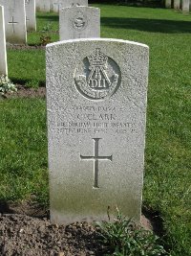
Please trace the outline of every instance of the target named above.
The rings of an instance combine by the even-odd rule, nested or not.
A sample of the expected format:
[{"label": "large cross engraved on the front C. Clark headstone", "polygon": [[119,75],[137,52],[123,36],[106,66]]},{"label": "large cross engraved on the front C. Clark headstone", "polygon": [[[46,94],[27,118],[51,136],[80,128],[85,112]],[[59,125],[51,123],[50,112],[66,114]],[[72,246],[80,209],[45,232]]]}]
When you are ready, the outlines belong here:
[{"label": "large cross engraved on the front C. Clark headstone", "polygon": [[94,188],[98,188],[98,161],[99,160],[110,160],[112,161],[112,155],[110,156],[99,156],[98,155],[98,141],[100,140],[100,138],[93,138],[94,142],[95,142],[95,147],[94,147],[94,151],[95,151],[95,155],[93,156],[84,156],[80,154],[80,158],[82,160],[94,160],[94,174],[95,174],[95,183],[94,183]]}]

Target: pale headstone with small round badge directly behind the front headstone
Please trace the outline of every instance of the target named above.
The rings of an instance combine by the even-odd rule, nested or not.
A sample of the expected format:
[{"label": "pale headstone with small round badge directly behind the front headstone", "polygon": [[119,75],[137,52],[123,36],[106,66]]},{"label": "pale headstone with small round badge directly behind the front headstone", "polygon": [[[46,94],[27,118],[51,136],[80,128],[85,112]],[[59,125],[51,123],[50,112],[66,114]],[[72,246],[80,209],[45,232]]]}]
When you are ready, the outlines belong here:
[{"label": "pale headstone with small round badge directly behind the front headstone", "polygon": [[59,35],[60,40],[100,37],[100,10],[94,7],[61,9]]}]

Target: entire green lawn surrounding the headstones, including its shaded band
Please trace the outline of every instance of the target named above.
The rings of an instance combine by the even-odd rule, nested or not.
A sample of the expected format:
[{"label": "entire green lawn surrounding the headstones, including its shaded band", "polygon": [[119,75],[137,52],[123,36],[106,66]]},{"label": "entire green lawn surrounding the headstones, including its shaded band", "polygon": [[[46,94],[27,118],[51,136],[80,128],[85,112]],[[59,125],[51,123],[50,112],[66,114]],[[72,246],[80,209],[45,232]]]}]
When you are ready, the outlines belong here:
[{"label": "entire green lawn surrounding the headstones, including its shaded band", "polygon": [[[172,256],[191,255],[191,15],[172,10],[96,5],[101,36],[135,40],[150,47],[143,204],[159,212]],[[58,15],[37,13],[42,30]],[[45,51],[8,51],[9,74],[21,83],[45,84]],[[44,100],[1,102],[0,198],[48,201]]]}]

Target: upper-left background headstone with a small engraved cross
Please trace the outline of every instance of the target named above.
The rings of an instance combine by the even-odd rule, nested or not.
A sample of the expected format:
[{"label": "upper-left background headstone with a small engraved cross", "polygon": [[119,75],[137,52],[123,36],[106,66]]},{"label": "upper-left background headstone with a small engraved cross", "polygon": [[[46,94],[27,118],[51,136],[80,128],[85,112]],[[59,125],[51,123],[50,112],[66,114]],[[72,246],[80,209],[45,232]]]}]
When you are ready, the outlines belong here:
[{"label": "upper-left background headstone with a small engraved cross", "polygon": [[0,0],[4,6],[6,40],[10,43],[26,43],[25,0]]}]

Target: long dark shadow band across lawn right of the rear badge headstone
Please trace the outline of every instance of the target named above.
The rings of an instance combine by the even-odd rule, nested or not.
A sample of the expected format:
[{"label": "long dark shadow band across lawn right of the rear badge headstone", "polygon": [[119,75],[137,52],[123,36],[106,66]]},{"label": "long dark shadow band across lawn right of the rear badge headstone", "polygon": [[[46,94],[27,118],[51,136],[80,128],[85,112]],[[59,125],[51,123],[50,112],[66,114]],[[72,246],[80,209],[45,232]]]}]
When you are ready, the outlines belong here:
[{"label": "long dark shadow band across lawn right of the rear badge headstone", "polygon": [[130,29],[153,33],[191,33],[191,21],[102,17],[101,25],[115,29]]}]

